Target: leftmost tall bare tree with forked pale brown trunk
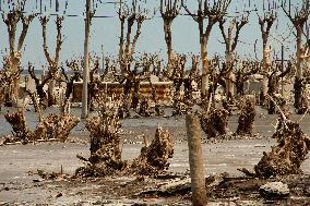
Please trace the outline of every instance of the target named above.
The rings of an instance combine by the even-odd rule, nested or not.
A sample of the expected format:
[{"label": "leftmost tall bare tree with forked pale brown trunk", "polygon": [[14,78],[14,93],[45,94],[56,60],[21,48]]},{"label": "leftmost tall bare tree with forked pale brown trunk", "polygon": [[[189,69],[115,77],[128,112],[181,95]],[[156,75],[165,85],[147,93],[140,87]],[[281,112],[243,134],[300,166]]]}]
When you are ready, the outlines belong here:
[{"label": "leftmost tall bare tree with forked pale brown trunk", "polygon": [[[12,3],[12,2],[9,2]],[[22,49],[24,47],[24,43],[27,36],[28,27],[32,21],[35,19],[36,14],[24,14],[26,0],[17,1],[12,3],[12,8],[9,13],[2,13],[2,20],[8,27],[9,34],[9,64],[8,69],[12,71],[12,73],[17,74],[20,71],[21,59],[22,59]],[[20,34],[17,46],[16,45],[16,35],[19,28],[19,22],[22,22],[22,32]],[[14,106],[17,105],[19,93],[20,93],[20,78],[21,76],[15,76],[11,82],[11,97]]]}]

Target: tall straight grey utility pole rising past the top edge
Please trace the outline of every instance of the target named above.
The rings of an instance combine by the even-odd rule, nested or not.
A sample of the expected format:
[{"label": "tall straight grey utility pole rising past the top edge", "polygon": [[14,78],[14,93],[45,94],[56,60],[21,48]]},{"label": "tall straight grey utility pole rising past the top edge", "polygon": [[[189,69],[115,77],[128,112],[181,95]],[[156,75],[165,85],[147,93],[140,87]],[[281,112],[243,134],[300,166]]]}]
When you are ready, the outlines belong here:
[{"label": "tall straight grey utility pole rising past the top edge", "polygon": [[88,117],[88,82],[90,82],[90,31],[91,31],[91,0],[86,0],[86,19],[85,19],[85,40],[84,40],[84,72],[83,72],[83,90],[82,90],[82,113],[81,119]]}]

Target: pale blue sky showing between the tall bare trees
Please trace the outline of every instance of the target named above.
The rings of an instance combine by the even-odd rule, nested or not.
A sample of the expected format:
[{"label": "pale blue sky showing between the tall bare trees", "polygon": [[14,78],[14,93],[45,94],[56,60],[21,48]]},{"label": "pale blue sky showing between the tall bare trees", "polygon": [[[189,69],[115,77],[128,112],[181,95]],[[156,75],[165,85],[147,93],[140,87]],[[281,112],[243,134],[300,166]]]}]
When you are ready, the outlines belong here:
[{"label": "pale blue sky showing between the tall bare trees", "polygon": [[[38,0],[39,1],[39,0]],[[49,0],[43,0],[46,4],[46,14],[53,12],[55,9],[49,8]],[[59,0],[60,7],[63,8],[64,0]],[[250,0],[251,1],[251,0]],[[36,8],[36,0],[28,0],[26,5],[26,11],[39,11]],[[253,9],[257,2],[257,8],[261,10],[262,0],[251,1],[251,8]],[[293,1],[294,2],[294,1]],[[233,0],[229,7],[228,13],[234,15],[236,11],[242,11],[245,5],[248,7],[249,0]],[[52,0],[52,4],[55,1]],[[78,17],[65,17],[63,23],[63,35],[64,43],[61,51],[61,61],[70,59],[72,57],[82,56],[83,53],[83,40],[84,40],[84,12],[85,0],[69,0],[68,14],[78,14]],[[147,8],[155,8],[159,5],[159,0],[148,0],[146,3]],[[189,8],[196,8],[196,1],[188,0]],[[4,11],[8,8],[2,8]],[[184,13],[184,11],[182,11]],[[94,19],[92,24],[91,34],[91,50],[102,56],[102,48],[104,47],[105,54],[116,54],[118,51],[118,37],[120,35],[120,24],[116,13],[116,7],[112,4],[100,4],[97,9],[97,15],[109,15],[115,17],[109,19]],[[166,58],[166,45],[164,40],[163,31],[163,20],[159,17],[159,11],[157,15],[145,22],[142,27],[141,38],[136,46],[136,51],[139,52],[160,52],[163,58]],[[51,17],[52,19],[52,17]],[[288,36],[290,34],[291,24],[289,20],[284,15],[282,9],[278,9],[278,21],[276,26],[273,26],[272,35],[278,39],[281,35]],[[53,56],[53,47],[56,44],[56,25],[53,21],[48,24],[48,43],[49,49]],[[261,32],[258,24],[258,15],[252,12],[249,16],[249,24],[247,24],[240,34],[240,41],[237,46],[237,52],[241,57],[254,58],[254,43],[258,39],[258,57],[261,58]],[[41,26],[39,24],[38,17],[34,20],[31,24],[28,35],[25,44],[25,52],[23,54],[22,64],[27,64],[28,61],[35,63],[36,65],[46,64],[46,59],[44,57],[41,47]],[[214,26],[212,31],[208,53],[213,56],[218,53],[224,56],[225,46],[222,44],[223,38],[218,29],[218,25]],[[198,24],[190,16],[179,16],[174,21],[172,24],[172,44],[174,49],[178,53],[196,53],[199,54],[199,32]],[[279,53],[281,44],[271,38],[271,45],[275,49],[275,53]],[[290,37],[285,43],[286,57],[288,54],[295,53],[295,39],[294,36]],[[1,54],[5,53],[5,48],[8,48],[8,33],[5,24],[0,22],[0,51]]]}]

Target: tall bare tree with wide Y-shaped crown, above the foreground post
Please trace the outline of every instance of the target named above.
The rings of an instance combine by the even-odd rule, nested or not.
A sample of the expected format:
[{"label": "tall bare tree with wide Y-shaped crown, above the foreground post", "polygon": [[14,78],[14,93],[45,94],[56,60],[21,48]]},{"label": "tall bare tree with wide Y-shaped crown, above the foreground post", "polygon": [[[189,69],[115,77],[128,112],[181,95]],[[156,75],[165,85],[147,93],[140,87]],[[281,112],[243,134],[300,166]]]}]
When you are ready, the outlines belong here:
[{"label": "tall bare tree with wide Y-shaped crown, above the foreground post", "polygon": [[[192,16],[192,19],[199,25],[200,34],[200,47],[201,47],[201,61],[202,61],[202,95],[207,95],[208,90],[208,78],[210,78],[210,68],[207,60],[207,43],[211,35],[213,26],[223,19],[228,5],[231,0],[198,0],[198,11],[195,13],[191,12],[182,0],[182,7],[186,9],[187,13]],[[205,26],[205,20],[207,24]]]}]

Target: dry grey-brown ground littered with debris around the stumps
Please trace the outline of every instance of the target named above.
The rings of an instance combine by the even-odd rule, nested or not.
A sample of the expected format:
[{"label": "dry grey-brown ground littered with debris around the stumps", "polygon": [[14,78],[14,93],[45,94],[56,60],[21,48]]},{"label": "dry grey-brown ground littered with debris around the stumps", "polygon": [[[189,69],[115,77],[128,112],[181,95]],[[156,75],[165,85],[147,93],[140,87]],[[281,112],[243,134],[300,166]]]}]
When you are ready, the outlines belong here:
[{"label": "dry grey-brown ground littered with debris around the stumps", "polygon": [[[48,110],[47,112],[51,112]],[[276,116],[265,116],[259,111],[254,140],[231,140],[219,143],[203,144],[205,168],[207,175],[227,172],[229,175],[219,184],[208,189],[210,205],[219,202],[224,205],[303,205],[310,194],[310,178],[290,177],[285,180],[289,183],[291,196],[285,202],[263,199],[258,187],[266,180],[243,179],[237,168],[253,166],[275,143],[269,138],[276,123]],[[0,114],[0,135],[10,133],[10,125],[4,121],[2,110]],[[73,110],[78,113],[78,110]],[[27,112],[29,125],[34,126],[36,116]],[[294,117],[298,119],[300,117]],[[189,184],[172,193],[158,192],[158,185],[170,184],[182,180],[189,182],[188,146],[183,118],[140,118],[122,121],[122,152],[123,159],[132,159],[140,154],[142,134],[153,138],[157,123],[168,129],[175,141],[175,155],[170,160],[169,173],[172,177],[144,180],[135,177],[109,177],[105,179],[58,179],[45,181],[35,174],[37,169],[48,172],[73,174],[82,166],[75,157],[81,154],[88,156],[87,132],[83,122],[74,129],[71,135],[72,143],[38,143],[35,145],[7,145],[0,147],[0,205],[190,205]],[[301,122],[302,129],[310,134],[310,117],[306,116]],[[229,130],[234,132],[237,126],[237,117],[229,119]],[[310,174],[310,160],[302,165],[306,174]],[[226,174],[227,175],[227,174]],[[172,179],[167,179],[172,178]],[[223,179],[222,179],[223,180]],[[274,181],[274,180],[267,180]],[[212,183],[212,181],[210,182]],[[144,192],[144,193],[143,193]],[[310,195],[309,195],[310,196]]]}]

